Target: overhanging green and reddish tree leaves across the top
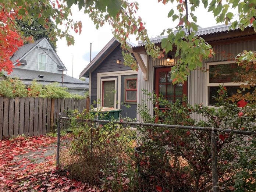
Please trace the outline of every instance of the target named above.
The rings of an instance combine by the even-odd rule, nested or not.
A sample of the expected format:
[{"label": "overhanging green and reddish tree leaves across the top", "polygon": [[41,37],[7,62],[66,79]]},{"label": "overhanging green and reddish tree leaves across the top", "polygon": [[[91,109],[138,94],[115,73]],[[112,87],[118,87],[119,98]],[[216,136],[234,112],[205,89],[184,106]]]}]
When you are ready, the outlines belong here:
[{"label": "overhanging green and reddish tree leaves across the top", "polygon": [[[38,18],[38,23],[43,25],[50,32],[51,23],[48,18],[53,18],[57,25],[65,25],[65,30],[56,27],[56,33],[51,34],[52,38],[59,36],[67,40],[67,45],[74,44],[74,38],[70,35],[70,30],[81,33],[81,21],[74,21],[71,16],[71,6],[77,4],[79,10],[94,22],[96,28],[108,23],[112,26],[113,35],[120,40],[124,64],[137,69],[138,66],[129,53],[126,39],[129,35],[136,35],[136,40],[146,42],[147,54],[153,58],[161,58],[164,52],[172,51],[177,47],[175,56],[180,55],[177,64],[172,67],[173,82],[184,82],[191,70],[202,67],[202,60],[212,57],[214,52],[212,47],[205,40],[196,35],[198,31],[197,17],[195,11],[200,4],[203,4],[211,14],[214,15],[217,23],[231,22],[231,29],[239,27],[241,30],[252,25],[256,29],[256,1],[255,0],[158,0],[164,5],[174,4],[175,8],[170,9],[167,17],[173,21],[179,21],[175,28],[167,28],[161,35],[167,33],[168,37],[162,40],[161,49],[150,42],[145,28],[145,23],[138,17],[139,5],[128,0],[0,0],[0,10],[7,15],[6,22],[0,22],[1,26],[6,23],[10,28],[19,32],[20,28],[16,25],[17,18],[32,23],[33,18]],[[190,6],[188,6],[190,5]],[[33,7],[33,9],[31,8]],[[173,5],[170,7],[174,7]],[[238,14],[232,10],[237,10]],[[235,21],[234,21],[235,19]],[[185,27],[185,30],[183,29]],[[174,34],[174,30],[178,30]],[[4,33],[7,33],[4,31]],[[54,36],[53,36],[54,35]],[[250,57],[249,57],[249,56]],[[248,50],[239,56],[238,63],[253,62],[256,52]],[[249,59],[248,59],[249,58]],[[255,66],[255,64],[253,64]],[[255,67],[254,67],[255,68]],[[255,80],[255,76],[253,77]]]}]

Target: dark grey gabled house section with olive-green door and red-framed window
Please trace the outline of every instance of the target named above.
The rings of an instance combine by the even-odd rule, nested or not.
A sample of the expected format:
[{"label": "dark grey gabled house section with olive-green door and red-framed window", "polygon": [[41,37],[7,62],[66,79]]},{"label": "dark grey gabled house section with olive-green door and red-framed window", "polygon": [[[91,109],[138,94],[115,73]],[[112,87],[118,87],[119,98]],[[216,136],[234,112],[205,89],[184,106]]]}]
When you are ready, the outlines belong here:
[{"label": "dark grey gabled house section with olive-green door and red-framed window", "polygon": [[81,72],[80,78],[89,77],[90,100],[92,104],[99,101],[95,107],[122,109],[122,117],[136,118],[138,72],[123,61],[120,42],[112,38]]}]

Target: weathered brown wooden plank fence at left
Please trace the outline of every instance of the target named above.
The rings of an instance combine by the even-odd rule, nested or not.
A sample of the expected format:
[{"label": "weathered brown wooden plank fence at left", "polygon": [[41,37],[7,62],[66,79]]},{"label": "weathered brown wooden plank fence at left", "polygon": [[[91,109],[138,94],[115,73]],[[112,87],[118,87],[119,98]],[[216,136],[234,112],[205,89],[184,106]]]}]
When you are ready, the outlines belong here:
[{"label": "weathered brown wooden plank fence at left", "polygon": [[89,111],[89,97],[39,98],[0,97],[0,139],[24,134],[44,135],[54,129],[58,114],[66,116],[68,110]]}]

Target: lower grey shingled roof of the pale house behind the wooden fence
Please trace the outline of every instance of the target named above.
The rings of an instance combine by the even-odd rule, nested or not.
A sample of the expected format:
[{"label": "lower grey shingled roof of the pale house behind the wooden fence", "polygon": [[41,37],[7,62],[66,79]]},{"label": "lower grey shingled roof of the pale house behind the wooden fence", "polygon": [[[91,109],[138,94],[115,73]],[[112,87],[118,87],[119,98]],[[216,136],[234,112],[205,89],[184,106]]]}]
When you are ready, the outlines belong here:
[{"label": "lower grey shingled roof of the pale house behind the wooden fence", "polygon": [[[7,77],[15,78],[18,77],[21,81],[24,82],[32,82],[36,80],[43,85],[46,85],[51,82],[62,83],[62,74],[60,73],[51,73],[45,71],[33,71],[33,70],[24,70],[19,68],[13,68],[13,72],[11,74],[5,74]],[[40,78],[39,76],[43,76]],[[73,78],[69,75],[63,75],[64,85],[67,87],[76,87],[76,88],[89,88],[89,83],[82,81],[77,78]],[[26,83],[29,84],[29,83]]]}]

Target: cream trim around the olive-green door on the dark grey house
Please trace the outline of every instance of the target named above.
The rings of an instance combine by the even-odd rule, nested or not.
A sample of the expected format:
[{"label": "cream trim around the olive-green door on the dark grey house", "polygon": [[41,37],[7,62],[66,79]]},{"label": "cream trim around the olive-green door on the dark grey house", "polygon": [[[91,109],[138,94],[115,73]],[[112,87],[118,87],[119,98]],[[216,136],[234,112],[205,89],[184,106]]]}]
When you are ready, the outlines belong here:
[{"label": "cream trim around the olive-green door on the dark grey house", "polygon": [[[122,75],[138,75],[138,72],[134,71],[134,70],[126,70],[126,71],[112,71],[112,72],[97,73],[97,100],[100,99],[100,103],[97,103],[97,107],[101,107],[101,104],[102,104],[102,102],[101,102],[102,95],[100,95],[102,92],[101,78],[117,76],[118,85],[117,85],[117,83],[115,83],[115,85],[117,85],[117,87],[118,87],[118,92],[115,93],[115,94],[117,94],[117,100],[115,99],[115,101],[117,104],[117,109],[121,109],[121,76]],[[102,80],[105,80],[105,79],[102,79]],[[137,83],[138,83],[138,81],[137,81]],[[137,92],[137,94],[138,94],[138,92]],[[137,97],[137,99],[138,99],[138,97]]]}]

